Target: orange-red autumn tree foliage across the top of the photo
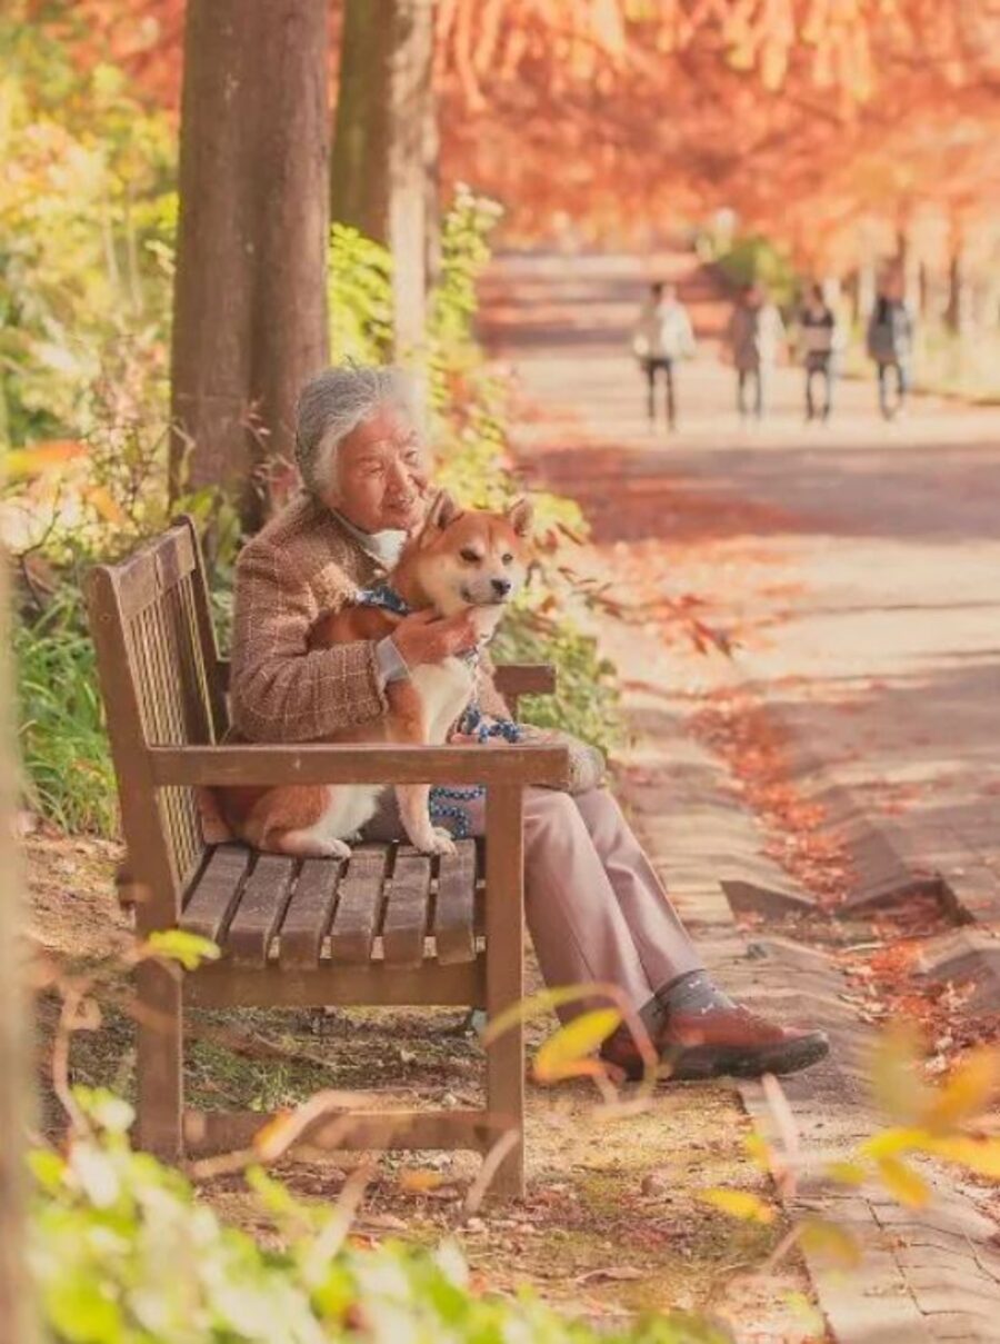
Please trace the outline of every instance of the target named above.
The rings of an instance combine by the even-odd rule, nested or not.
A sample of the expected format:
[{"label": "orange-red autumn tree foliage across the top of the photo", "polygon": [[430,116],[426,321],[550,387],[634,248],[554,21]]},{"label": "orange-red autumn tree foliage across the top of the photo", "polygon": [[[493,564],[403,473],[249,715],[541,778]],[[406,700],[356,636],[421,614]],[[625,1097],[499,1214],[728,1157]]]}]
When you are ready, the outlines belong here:
[{"label": "orange-red autumn tree foliage across the top of the photo", "polygon": [[[82,59],[99,36],[176,106],[184,0],[56,9]],[[726,206],[843,270],[859,224],[891,238],[933,207],[948,251],[996,199],[991,0],[440,0],[437,26],[442,180],[496,195],[522,238]]]}]

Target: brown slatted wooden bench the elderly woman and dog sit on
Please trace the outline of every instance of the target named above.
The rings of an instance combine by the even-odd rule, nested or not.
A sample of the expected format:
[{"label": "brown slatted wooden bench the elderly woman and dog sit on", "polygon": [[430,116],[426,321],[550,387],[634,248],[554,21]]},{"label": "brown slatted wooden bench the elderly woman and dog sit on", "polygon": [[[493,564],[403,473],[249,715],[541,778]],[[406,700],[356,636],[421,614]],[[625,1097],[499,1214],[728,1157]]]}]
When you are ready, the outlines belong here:
[{"label": "brown slatted wooden bench the elderly woman and dog sit on", "polygon": [[[192,1111],[183,1094],[183,1008],[458,1004],[492,1017],[522,997],[526,785],[559,785],[562,749],[219,746],[228,665],[219,657],[190,519],[87,579],[90,625],[121,798],[141,938],[180,927],[216,962],[177,974],[137,966],[138,1141],[171,1160],[247,1144],[267,1117]],[[504,668],[509,700],[551,691],[543,667]],[[345,862],[204,844],[196,789],[218,784],[429,782],[487,786],[485,841],[430,859],[366,844]],[[375,1110],[327,1125],[337,1148],[470,1148],[517,1132],[495,1191],[523,1191],[520,1027],[487,1050],[483,1110]],[[308,1136],[323,1145],[324,1126]]]}]

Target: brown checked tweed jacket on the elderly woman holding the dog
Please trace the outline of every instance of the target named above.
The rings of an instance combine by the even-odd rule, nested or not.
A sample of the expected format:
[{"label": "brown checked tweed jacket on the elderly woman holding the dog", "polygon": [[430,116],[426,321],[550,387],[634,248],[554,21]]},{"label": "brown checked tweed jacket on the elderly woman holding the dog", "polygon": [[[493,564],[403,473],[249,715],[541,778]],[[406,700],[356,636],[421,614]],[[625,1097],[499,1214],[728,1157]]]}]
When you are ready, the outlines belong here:
[{"label": "brown checked tweed jacket on the elderly woman holding the dog", "polygon": [[[349,583],[344,581],[344,594]],[[317,742],[388,708],[375,644],[309,650],[320,606],[272,546],[237,563],[230,681],[233,724],[251,742]]]}]

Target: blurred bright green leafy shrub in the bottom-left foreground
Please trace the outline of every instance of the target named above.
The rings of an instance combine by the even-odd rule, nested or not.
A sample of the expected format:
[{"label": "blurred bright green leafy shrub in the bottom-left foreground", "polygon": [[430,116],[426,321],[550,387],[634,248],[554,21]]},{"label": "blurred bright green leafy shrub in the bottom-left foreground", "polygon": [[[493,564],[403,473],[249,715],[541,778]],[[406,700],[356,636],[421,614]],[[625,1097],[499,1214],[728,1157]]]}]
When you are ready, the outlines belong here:
[{"label": "blurred bright green leafy shrub in the bottom-left foreground", "polygon": [[696,1317],[649,1317],[598,1333],[528,1292],[469,1290],[461,1251],[349,1243],[337,1204],[296,1200],[247,1173],[280,1245],[219,1223],[175,1171],[132,1152],[130,1107],[106,1093],[78,1101],[101,1128],[67,1157],[32,1154],[30,1255],[58,1344],[726,1344]]}]

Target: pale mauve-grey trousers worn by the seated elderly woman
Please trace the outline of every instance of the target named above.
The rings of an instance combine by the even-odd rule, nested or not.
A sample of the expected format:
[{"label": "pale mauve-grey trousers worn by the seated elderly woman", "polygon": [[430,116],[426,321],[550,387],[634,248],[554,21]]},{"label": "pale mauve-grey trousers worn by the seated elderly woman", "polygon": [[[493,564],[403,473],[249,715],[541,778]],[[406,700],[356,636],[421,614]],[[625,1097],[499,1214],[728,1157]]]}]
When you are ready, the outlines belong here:
[{"label": "pale mauve-grey trousers worn by the seated elderly woman", "polygon": [[[483,835],[484,804],[462,804]],[[395,801],[366,828],[401,835]],[[606,789],[570,797],[524,790],[524,914],[550,988],[610,981],[636,1008],[664,984],[700,970],[691,938],[621,808]],[[560,1011],[567,1020],[593,1003]]]}]

